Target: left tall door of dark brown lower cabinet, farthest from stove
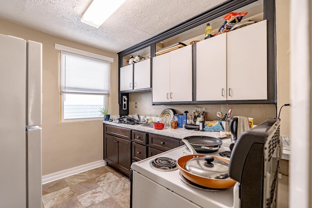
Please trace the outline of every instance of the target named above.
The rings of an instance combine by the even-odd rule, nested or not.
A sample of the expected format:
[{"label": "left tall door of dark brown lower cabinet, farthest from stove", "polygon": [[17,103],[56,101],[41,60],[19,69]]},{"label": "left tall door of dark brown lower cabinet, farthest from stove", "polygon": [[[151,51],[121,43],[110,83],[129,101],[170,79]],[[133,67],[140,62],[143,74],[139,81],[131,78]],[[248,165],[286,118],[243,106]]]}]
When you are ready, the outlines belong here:
[{"label": "left tall door of dark brown lower cabinet, farthest from stove", "polygon": [[104,160],[109,165],[115,166],[117,161],[117,137],[104,134]]}]

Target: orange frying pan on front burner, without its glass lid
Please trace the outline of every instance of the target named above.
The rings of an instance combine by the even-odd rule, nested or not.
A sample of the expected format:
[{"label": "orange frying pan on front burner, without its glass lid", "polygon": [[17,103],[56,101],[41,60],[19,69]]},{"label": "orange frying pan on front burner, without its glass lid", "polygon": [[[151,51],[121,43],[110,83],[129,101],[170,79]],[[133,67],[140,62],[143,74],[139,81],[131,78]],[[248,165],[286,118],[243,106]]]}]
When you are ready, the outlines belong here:
[{"label": "orange frying pan on front burner, without its glass lid", "polygon": [[[191,150],[192,153],[194,153],[194,148],[192,148],[192,146],[188,143],[187,140],[182,139],[182,141],[185,143],[186,146],[190,146],[189,149]],[[216,179],[216,178],[207,178],[207,177],[203,177],[200,175],[196,175],[188,170],[185,169],[185,165],[186,163],[193,159],[194,157],[204,157],[204,154],[191,154],[191,155],[185,155],[180,157],[177,160],[177,165],[179,168],[179,171],[181,172],[181,174],[188,179],[189,181],[198,184],[200,186],[203,187],[207,187],[207,188],[212,188],[212,189],[228,189],[230,187],[233,187],[236,183],[236,181],[234,181],[232,178],[227,177],[225,179]],[[217,160],[221,160],[227,164],[230,163],[229,160],[222,158],[222,157],[217,157],[217,156],[213,156],[214,159]]]}]

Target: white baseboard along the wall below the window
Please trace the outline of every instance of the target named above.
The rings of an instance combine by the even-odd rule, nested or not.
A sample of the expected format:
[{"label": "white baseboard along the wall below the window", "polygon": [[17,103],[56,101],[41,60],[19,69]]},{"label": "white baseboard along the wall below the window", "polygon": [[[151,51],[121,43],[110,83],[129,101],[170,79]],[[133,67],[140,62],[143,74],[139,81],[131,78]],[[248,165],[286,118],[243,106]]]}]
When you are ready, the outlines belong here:
[{"label": "white baseboard along the wall below the window", "polygon": [[105,166],[105,165],[106,165],[106,161],[105,160],[99,160],[99,161],[96,161],[96,162],[93,162],[93,163],[89,163],[89,164],[85,164],[85,165],[82,165],[82,166],[78,166],[78,167],[75,167],[75,168],[71,168],[71,169],[67,169],[67,170],[61,170],[59,172],[51,173],[49,175],[43,175],[42,176],[42,185],[50,183],[52,181],[56,181],[56,180],[62,179],[62,178],[69,177],[71,175],[76,175],[76,174],[78,174],[80,172],[85,172],[85,171],[88,171],[88,170],[99,168],[99,167],[102,167],[102,166]]}]

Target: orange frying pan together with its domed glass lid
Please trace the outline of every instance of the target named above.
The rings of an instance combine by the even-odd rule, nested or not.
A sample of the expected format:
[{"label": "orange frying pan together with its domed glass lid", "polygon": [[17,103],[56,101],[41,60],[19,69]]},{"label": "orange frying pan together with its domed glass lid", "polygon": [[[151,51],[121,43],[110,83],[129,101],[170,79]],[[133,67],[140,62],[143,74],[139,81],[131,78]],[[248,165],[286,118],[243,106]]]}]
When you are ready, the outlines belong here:
[{"label": "orange frying pan together with its domed glass lid", "polygon": [[[182,139],[182,141],[192,153],[196,152],[188,140]],[[179,171],[186,179],[203,187],[212,189],[227,189],[233,187],[236,182],[228,177],[230,161],[217,156],[209,156],[205,159],[205,156],[206,155],[203,154],[191,154],[180,157],[177,160]],[[204,165],[206,160],[208,160],[207,166],[210,166],[211,170],[207,170],[209,169],[208,167],[203,168],[206,166]],[[193,163],[199,163],[200,165],[196,166]],[[220,166],[220,164],[222,164],[222,166]],[[215,167],[219,167],[222,171],[216,172]]]}]

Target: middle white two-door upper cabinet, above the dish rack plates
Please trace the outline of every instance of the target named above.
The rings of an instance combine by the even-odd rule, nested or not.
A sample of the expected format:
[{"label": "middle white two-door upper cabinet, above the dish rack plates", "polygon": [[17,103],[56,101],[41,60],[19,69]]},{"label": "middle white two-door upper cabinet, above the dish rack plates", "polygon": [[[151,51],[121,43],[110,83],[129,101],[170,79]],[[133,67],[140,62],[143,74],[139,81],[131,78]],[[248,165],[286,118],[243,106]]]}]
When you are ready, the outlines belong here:
[{"label": "middle white two-door upper cabinet, above the dish rack plates", "polygon": [[193,100],[192,45],[153,58],[153,102]]}]

